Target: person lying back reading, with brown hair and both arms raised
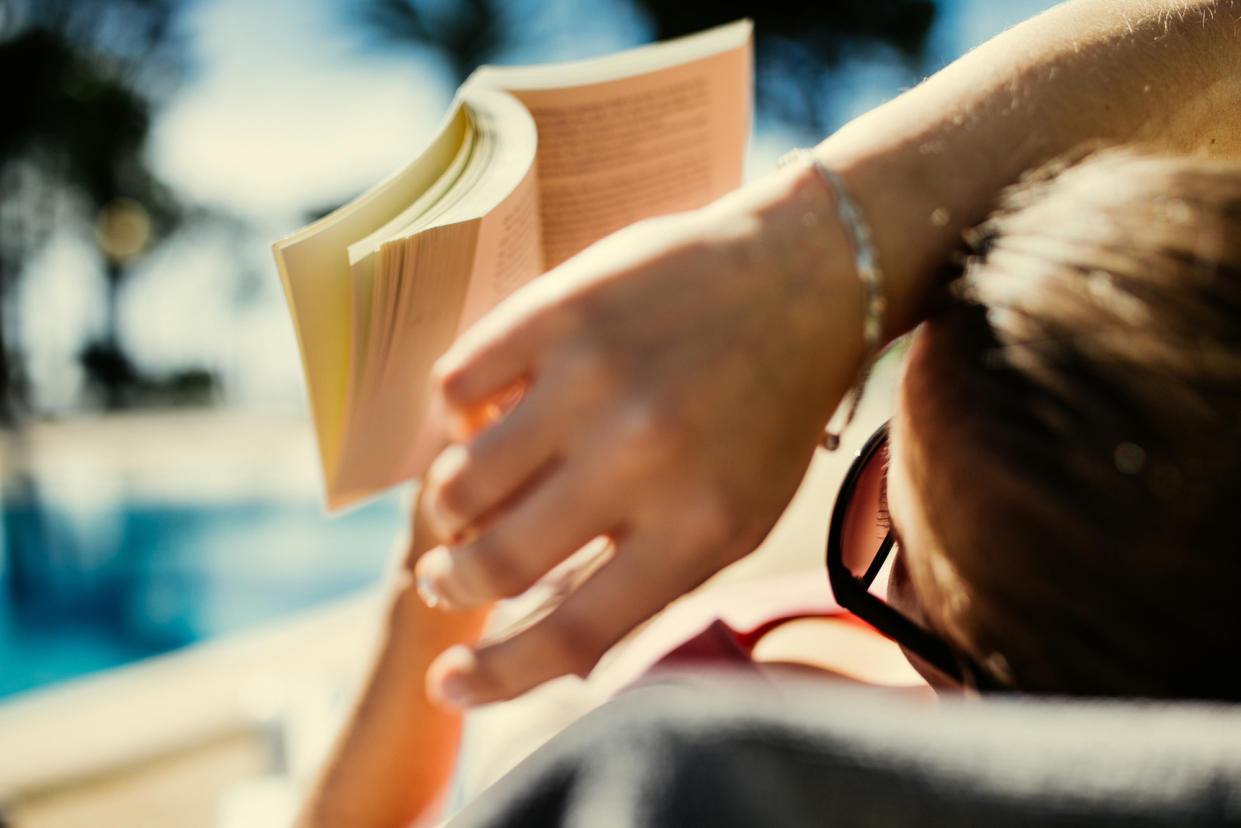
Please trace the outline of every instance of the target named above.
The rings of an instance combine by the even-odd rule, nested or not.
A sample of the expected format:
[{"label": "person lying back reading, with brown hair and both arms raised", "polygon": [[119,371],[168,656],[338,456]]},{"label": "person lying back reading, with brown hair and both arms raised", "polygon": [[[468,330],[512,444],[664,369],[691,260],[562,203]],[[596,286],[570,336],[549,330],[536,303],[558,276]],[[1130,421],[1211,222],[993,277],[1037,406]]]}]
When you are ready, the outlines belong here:
[{"label": "person lying back reading, with brown hair and both arms raised", "polygon": [[[870,227],[884,273],[882,333],[895,336],[936,309],[956,240],[1024,170],[1090,139],[1241,155],[1241,112],[1229,106],[1241,93],[1239,17],[1241,4],[1224,1],[1069,2],[849,124],[817,148],[817,164],[622,231],[467,331],[439,364],[442,394],[463,417],[496,401],[505,411],[463,427],[463,441],[428,470],[423,525],[392,591],[383,646],[305,823],[400,824],[424,812],[447,773],[434,757],[450,755],[458,726],[432,701],[464,708],[587,672],[628,629],[757,545],[867,350],[874,307],[855,268],[858,235],[838,215],[841,192]],[[843,189],[827,185],[824,169]],[[1227,310],[1212,308],[1230,295],[1225,266],[1236,267],[1236,251],[1226,232],[1195,230],[1199,220],[1221,227],[1237,207],[1194,200],[1229,174],[1129,159],[1081,170],[1028,185],[1034,205],[1010,205],[994,225],[1003,231],[984,228],[994,237],[984,264],[967,271],[964,294],[915,338],[887,451],[898,541],[895,557],[889,546],[895,590],[885,606],[942,643],[967,682],[1226,696],[1235,680],[1201,653],[1227,641],[1212,624],[1226,621],[1221,595],[1236,571],[1216,556],[1222,569],[1203,585],[1203,557],[1181,552],[1217,538],[1204,516],[1219,514],[1232,484],[1191,504],[1212,475],[1231,469],[1235,478],[1237,466],[1224,451],[1226,430],[1206,430],[1219,426],[1212,406],[1230,402],[1221,382],[1235,343]],[[1069,195],[1056,196],[1057,186]],[[1035,276],[1039,256],[1023,245],[1087,195],[1096,201],[1070,214],[1080,221],[1050,222],[1066,237],[1037,242],[1049,246],[1047,269]],[[1163,212],[1144,214],[1149,201]],[[1111,222],[1127,210],[1128,228],[1116,231]],[[1148,238],[1147,220],[1162,221],[1160,233]],[[1207,241],[1199,248],[1195,240]],[[1175,267],[1163,281],[1149,277],[1150,262],[1113,267],[1131,242]],[[1011,274],[984,279],[988,268]],[[1217,278],[1199,286],[1194,277],[1207,272]],[[1180,314],[1165,314],[1180,339],[1152,322],[1157,310]],[[1096,322],[1114,323],[1097,341],[1087,335]],[[1077,356],[1095,362],[1057,362],[1069,359],[1057,343],[1083,344]],[[1121,369],[1108,361],[1117,354]],[[952,366],[969,359],[974,369],[958,375]],[[997,359],[998,367],[988,361]],[[1159,370],[1126,385],[1133,365]],[[1189,390],[1163,398],[1178,370]],[[1160,413],[1139,422],[1138,401]],[[1010,431],[1014,412],[1029,416]],[[1172,437],[1159,431],[1186,412],[1196,418]],[[1133,428],[1108,431],[1117,418]],[[1193,462],[1181,467],[1181,457]],[[1052,488],[1061,479],[1071,485]],[[1138,514],[1176,519],[1162,534],[1129,523],[1127,510],[1149,503],[1160,509]],[[1169,546],[1173,526],[1193,531]],[[503,641],[434,654],[473,642],[479,608],[598,535],[613,539],[614,554],[553,612]],[[444,542],[424,551],[429,538]],[[1061,554],[1046,554],[1061,542]],[[1003,567],[994,566],[1000,550]],[[1181,591],[1175,611],[1160,583]],[[416,585],[436,608],[418,601]],[[1210,602],[1204,619],[1199,601]],[[1140,636],[1122,642],[1126,629]],[[1194,638],[1201,647],[1184,647],[1203,633]],[[1148,634],[1152,663],[1142,652]],[[934,658],[910,648],[915,659]]]}]

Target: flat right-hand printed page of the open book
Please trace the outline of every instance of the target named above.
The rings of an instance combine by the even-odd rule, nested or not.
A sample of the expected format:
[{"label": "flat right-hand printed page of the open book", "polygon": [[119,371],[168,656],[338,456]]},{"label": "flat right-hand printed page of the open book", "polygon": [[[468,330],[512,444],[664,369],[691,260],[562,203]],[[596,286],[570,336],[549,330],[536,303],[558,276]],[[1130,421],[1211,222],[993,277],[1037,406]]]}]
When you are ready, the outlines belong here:
[{"label": "flat right-hand printed page of the open book", "polygon": [[[710,42],[731,47],[666,65]],[[594,63],[629,76],[549,86],[557,73],[561,84],[606,73]],[[643,72],[650,65],[660,68]],[[741,184],[751,109],[748,24],[573,67],[488,67],[478,81],[506,88],[534,115],[549,268],[634,221],[702,206]]]}]

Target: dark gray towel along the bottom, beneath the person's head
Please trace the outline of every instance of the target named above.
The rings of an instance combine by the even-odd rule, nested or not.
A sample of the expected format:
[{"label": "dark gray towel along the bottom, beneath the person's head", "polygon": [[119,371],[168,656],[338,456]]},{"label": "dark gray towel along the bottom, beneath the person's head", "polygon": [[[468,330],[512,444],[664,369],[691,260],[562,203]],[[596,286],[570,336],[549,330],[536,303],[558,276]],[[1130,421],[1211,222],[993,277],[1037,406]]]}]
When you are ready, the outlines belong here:
[{"label": "dark gray towel along the bottom, beneath the person's head", "polygon": [[695,675],[622,694],[450,824],[1241,826],[1241,709]]}]

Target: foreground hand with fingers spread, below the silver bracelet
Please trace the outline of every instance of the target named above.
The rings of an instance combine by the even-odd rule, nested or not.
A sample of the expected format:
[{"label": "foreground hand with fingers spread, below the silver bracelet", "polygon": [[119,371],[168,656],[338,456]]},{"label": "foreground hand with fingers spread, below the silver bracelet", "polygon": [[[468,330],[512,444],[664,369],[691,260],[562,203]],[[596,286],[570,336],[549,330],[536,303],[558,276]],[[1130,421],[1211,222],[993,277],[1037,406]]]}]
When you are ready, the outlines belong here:
[{"label": "foreground hand with fingers spread, below the silver bracelet", "polygon": [[457,540],[418,562],[424,591],[477,607],[593,538],[616,551],[534,626],[444,653],[432,693],[480,704],[585,674],[769,531],[861,354],[860,288],[813,175],[606,238],[439,361],[452,410],[524,392],[428,470],[432,519]]}]

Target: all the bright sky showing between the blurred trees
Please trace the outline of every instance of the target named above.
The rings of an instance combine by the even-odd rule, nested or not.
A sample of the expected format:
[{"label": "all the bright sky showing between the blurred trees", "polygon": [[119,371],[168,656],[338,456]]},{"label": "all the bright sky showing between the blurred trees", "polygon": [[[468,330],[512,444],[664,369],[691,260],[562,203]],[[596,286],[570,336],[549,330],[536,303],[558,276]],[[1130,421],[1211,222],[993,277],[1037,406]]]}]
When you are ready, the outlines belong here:
[{"label": "all the bright sky showing between the blurred trees", "polygon": [[[932,68],[1049,5],[943,0],[930,41]],[[192,71],[158,115],[150,159],[182,197],[238,216],[249,232],[186,233],[145,257],[122,295],[122,334],[148,370],[216,370],[235,405],[305,406],[271,242],[304,223],[309,211],[360,192],[410,160],[452,94],[450,72],[434,55],[376,50],[340,7],[196,0],[181,22]],[[510,7],[537,36],[509,61],[604,53],[648,36],[617,0],[514,0]],[[839,76],[839,120],[917,79],[882,60],[855,61]],[[769,169],[789,140],[759,132],[751,173]],[[82,227],[66,222],[53,242],[29,264],[35,278],[24,282],[20,314],[40,401],[68,411],[81,390],[76,354],[102,328],[103,288]]]}]

